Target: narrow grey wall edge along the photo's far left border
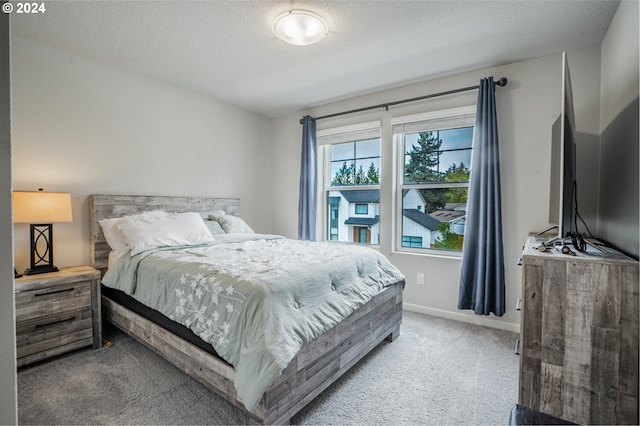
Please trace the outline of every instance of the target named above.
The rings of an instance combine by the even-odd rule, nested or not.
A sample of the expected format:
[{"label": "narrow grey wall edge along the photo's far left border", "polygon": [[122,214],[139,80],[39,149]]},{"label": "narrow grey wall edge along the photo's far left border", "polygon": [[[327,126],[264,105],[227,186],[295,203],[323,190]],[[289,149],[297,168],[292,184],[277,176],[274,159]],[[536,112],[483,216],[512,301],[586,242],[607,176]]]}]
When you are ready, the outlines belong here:
[{"label": "narrow grey wall edge along the photo's far left border", "polygon": [[0,424],[17,424],[13,231],[11,224],[11,109],[9,15],[0,15]]}]

